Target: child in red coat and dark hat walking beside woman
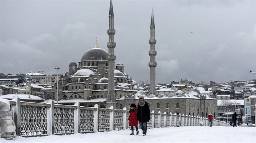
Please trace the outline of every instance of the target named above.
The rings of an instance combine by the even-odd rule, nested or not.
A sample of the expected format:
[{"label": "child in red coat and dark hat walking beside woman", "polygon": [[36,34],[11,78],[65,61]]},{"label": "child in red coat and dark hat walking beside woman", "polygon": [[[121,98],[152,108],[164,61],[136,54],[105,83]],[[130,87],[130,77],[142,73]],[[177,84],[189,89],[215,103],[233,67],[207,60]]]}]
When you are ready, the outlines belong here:
[{"label": "child in red coat and dark hat walking beside woman", "polygon": [[130,135],[134,135],[133,133],[133,126],[135,126],[136,128],[136,135],[139,134],[139,130],[138,130],[138,120],[137,120],[137,114],[138,114],[138,110],[137,110],[137,107],[136,105],[133,103],[131,104],[131,109],[130,109],[130,115],[129,115],[129,126],[131,126],[131,129],[132,129],[132,133]]}]

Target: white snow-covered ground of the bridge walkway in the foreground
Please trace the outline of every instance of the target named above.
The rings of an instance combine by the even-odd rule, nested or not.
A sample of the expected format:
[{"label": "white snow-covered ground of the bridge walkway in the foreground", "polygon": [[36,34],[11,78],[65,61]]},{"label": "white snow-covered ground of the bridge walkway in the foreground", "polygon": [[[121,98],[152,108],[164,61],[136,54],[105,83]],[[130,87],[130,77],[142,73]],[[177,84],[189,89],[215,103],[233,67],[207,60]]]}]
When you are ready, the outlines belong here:
[{"label": "white snow-covered ground of the bridge walkway in the foreground", "polygon": [[146,136],[130,135],[131,130],[48,137],[0,139],[0,143],[256,143],[256,127],[171,127],[148,129]]}]

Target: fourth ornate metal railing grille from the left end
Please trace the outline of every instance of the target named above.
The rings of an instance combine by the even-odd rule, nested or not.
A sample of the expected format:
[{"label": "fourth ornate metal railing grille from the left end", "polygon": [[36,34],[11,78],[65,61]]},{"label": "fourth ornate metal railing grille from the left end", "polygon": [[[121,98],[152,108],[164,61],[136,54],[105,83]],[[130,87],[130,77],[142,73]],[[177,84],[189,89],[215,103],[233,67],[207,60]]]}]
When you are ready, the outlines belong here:
[{"label": "fourth ornate metal railing grille from the left end", "polygon": [[99,109],[99,131],[110,131],[110,111]]}]

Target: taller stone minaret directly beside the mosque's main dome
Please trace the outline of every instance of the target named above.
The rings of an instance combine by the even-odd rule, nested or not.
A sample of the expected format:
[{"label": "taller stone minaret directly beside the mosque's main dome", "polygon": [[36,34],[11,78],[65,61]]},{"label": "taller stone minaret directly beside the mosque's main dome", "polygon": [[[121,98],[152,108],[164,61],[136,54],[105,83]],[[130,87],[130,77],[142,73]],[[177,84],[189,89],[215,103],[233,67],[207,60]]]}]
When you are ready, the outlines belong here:
[{"label": "taller stone minaret directly beside the mosque's main dome", "polygon": [[111,105],[116,108],[116,95],[115,95],[115,88],[114,88],[114,62],[115,62],[115,42],[114,42],[114,12],[113,12],[113,5],[112,0],[110,0],[110,7],[109,7],[109,24],[108,24],[108,93],[107,93],[107,100],[106,100],[106,108],[109,108]]}]

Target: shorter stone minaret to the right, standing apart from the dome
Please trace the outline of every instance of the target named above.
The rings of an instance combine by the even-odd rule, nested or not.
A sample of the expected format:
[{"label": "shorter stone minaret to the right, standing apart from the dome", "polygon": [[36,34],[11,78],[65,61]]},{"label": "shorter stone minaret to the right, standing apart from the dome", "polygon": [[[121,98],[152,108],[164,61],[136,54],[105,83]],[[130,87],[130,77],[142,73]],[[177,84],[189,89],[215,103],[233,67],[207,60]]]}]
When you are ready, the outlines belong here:
[{"label": "shorter stone minaret to the right, standing apart from the dome", "polygon": [[149,62],[149,67],[150,67],[150,91],[155,92],[156,90],[156,51],[155,51],[155,44],[156,44],[156,39],[155,39],[155,21],[154,21],[154,14],[153,14],[153,9],[152,9],[152,15],[151,15],[151,24],[150,24],[150,51],[149,51],[149,56],[150,56],[150,62]]}]

